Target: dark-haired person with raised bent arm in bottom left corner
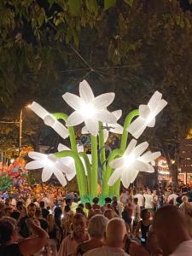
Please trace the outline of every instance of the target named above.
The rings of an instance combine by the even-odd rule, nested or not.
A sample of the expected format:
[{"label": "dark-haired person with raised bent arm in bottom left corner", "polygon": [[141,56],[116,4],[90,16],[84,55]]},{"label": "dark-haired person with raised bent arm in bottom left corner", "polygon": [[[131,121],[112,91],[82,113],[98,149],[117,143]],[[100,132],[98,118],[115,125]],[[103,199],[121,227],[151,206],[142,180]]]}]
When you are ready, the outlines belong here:
[{"label": "dark-haired person with raised bent arm in bottom left corner", "polygon": [[15,242],[17,236],[15,225],[8,219],[0,220],[0,255],[29,256],[44,247],[48,239],[47,233],[38,227],[31,218],[26,219],[26,224],[36,236]]}]

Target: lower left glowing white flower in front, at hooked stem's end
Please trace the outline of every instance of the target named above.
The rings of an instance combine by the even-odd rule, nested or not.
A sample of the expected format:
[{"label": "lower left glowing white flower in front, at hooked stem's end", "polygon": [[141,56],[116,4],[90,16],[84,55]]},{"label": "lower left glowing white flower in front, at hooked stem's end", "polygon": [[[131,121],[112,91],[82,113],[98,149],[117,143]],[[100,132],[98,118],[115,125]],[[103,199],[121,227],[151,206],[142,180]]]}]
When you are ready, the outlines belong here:
[{"label": "lower left glowing white flower in front, at hooked stem's end", "polygon": [[29,157],[33,159],[33,161],[26,164],[26,170],[34,170],[43,168],[42,171],[42,181],[46,182],[55,174],[55,177],[61,183],[61,185],[65,186],[67,184],[66,178],[71,180],[75,173],[73,169],[69,166],[64,165],[60,158],[57,158],[55,154],[42,154],[38,152],[29,152]]}]

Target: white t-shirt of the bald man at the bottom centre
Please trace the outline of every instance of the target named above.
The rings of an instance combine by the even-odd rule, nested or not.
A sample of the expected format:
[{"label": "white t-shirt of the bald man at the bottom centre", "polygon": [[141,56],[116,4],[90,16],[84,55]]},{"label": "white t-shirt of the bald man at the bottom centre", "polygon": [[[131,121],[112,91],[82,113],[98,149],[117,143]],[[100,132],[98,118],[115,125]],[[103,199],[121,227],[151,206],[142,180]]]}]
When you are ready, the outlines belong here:
[{"label": "white t-shirt of the bald man at the bottom centre", "polygon": [[123,249],[103,246],[84,253],[84,256],[129,256],[129,254]]}]

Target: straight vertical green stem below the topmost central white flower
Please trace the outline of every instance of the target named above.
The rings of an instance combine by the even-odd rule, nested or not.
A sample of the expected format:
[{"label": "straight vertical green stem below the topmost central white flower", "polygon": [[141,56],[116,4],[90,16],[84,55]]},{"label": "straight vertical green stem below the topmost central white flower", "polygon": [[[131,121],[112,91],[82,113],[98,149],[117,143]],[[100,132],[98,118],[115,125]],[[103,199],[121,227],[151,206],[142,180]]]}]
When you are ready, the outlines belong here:
[{"label": "straight vertical green stem below the topmost central white flower", "polygon": [[97,137],[91,136],[91,156],[92,156],[92,174],[91,174],[91,196],[97,195]]}]

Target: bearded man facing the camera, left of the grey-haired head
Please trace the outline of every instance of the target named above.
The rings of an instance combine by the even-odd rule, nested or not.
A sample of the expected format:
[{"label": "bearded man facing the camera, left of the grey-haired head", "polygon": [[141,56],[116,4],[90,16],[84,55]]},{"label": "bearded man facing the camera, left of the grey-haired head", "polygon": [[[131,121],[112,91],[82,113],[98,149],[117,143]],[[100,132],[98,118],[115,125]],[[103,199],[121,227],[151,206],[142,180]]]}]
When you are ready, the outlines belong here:
[{"label": "bearded man facing the camera, left of the grey-haired head", "polygon": [[73,217],[73,234],[68,235],[62,242],[58,256],[76,255],[79,243],[89,239],[85,232],[86,219],[83,214],[77,213]]}]

